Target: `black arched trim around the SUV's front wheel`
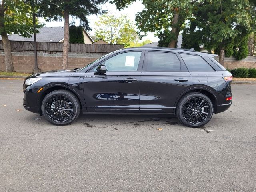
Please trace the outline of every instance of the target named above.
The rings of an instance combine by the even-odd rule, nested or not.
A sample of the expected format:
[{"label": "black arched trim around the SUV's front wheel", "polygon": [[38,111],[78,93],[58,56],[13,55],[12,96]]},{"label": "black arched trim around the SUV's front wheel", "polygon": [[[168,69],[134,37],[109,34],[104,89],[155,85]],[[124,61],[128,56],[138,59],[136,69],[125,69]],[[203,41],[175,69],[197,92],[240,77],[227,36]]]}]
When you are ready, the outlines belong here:
[{"label": "black arched trim around the SUV's front wheel", "polygon": [[78,92],[76,92],[74,89],[70,88],[70,86],[52,85],[52,86],[47,87],[47,89],[44,89],[44,92],[42,92],[42,94],[38,98],[38,109],[39,109],[40,116],[42,116],[42,109],[41,109],[42,101],[44,100],[44,98],[47,94],[49,94],[50,92],[55,91],[55,90],[68,90],[68,91],[72,92],[78,98],[81,107],[84,106],[84,102],[83,102],[82,98],[80,97],[80,95],[78,94]]}]

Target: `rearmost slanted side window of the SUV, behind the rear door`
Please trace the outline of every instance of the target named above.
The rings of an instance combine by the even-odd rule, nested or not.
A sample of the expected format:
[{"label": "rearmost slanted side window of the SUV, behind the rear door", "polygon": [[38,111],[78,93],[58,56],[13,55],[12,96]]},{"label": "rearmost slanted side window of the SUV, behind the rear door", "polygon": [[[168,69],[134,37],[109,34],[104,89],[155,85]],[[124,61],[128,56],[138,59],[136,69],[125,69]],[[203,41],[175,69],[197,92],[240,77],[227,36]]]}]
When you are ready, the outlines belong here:
[{"label": "rearmost slanted side window of the SUV, behind the rear door", "polygon": [[211,72],[214,69],[200,56],[180,54],[184,60],[188,71],[191,72]]}]

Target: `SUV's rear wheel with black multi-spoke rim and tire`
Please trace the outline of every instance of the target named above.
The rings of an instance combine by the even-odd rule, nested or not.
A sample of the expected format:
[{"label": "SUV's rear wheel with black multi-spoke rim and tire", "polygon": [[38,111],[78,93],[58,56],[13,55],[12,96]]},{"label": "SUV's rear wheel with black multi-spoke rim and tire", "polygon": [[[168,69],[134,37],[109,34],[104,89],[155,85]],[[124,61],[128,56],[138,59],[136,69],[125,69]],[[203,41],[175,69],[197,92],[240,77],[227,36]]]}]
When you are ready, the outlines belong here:
[{"label": "SUV's rear wheel with black multi-spoke rim and tire", "polygon": [[180,122],[188,127],[204,126],[212,118],[212,101],[202,93],[188,93],[180,99],[176,114]]}]

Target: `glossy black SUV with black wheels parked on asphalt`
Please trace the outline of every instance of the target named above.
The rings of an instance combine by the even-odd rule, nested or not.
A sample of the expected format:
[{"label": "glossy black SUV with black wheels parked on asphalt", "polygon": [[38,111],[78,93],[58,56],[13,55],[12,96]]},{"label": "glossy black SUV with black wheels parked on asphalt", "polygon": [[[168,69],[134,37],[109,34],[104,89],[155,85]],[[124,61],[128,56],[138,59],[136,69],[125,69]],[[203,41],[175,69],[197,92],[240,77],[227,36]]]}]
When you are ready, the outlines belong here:
[{"label": "glossy black SUV with black wheels parked on asphalt", "polygon": [[126,48],[84,68],[32,74],[23,106],[55,125],[80,112],[172,114],[199,127],[232,103],[232,74],[213,54],[171,48]]}]

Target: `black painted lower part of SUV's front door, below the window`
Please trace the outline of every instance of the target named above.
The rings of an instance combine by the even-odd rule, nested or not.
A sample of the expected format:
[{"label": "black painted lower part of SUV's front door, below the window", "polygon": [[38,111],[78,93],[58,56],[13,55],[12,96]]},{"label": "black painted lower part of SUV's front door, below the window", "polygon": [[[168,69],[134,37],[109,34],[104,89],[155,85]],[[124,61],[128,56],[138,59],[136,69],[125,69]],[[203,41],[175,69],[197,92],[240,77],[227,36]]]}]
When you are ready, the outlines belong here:
[{"label": "black painted lower part of SUV's front door, below the window", "polygon": [[[139,112],[141,72],[87,72],[83,79],[84,98],[88,112]],[[133,78],[134,82],[124,79]]]}]

